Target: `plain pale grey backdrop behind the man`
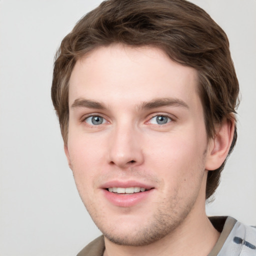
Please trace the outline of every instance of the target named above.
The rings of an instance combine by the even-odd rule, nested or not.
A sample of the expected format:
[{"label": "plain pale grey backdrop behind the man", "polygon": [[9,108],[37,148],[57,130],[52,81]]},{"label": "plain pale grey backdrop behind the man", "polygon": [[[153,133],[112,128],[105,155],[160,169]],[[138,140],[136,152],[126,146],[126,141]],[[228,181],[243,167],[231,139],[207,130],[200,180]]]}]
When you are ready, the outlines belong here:
[{"label": "plain pale grey backdrop behind the man", "polygon": [[[100,234],[76,191],[50,99],[54,53],[99,0],[0,0],[0,255],[76,255]],[[256,224],[256,1],[192,0],[227,33],[238,141],[209,215]]]}]

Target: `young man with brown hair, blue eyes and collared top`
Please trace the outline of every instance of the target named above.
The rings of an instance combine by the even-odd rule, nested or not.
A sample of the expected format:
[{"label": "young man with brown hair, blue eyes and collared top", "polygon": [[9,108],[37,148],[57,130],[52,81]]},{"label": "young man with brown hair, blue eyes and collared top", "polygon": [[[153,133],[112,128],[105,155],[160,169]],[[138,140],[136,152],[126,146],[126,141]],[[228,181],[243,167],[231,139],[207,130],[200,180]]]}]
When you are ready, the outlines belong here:
[{"label": "young man with brown hair, blue eyes and collared top", "polygon": [[109,0],[62,40],[52,101],[103,236],[78,255],[255,255],[256,229],[208,218],[236,141],[223,30],[185,0]]}]

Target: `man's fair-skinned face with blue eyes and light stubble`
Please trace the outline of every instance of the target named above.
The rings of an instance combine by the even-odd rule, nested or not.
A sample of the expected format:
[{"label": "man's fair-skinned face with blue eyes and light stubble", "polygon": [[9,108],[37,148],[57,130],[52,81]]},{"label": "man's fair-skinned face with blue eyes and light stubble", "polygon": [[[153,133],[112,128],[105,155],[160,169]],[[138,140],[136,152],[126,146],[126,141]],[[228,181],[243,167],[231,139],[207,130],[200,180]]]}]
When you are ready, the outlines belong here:
[{"label": "man's fair-skinned face with blue eyes and light stubble", "polygon": [[89,52],[70,77],[65,153],[107,239],[144,245],[170,234],[204,207],[196,71],[149,46]]}]

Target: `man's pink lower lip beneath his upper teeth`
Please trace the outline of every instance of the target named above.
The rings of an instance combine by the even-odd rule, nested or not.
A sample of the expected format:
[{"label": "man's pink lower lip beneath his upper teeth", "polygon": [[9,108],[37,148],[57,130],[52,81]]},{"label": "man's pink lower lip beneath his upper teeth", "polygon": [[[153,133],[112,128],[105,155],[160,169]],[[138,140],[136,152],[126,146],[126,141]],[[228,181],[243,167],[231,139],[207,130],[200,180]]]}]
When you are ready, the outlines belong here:
[{"label": "man's pink lower lip beneath his upper teeth", "polygon": [[153,189],[133,194],[115,194],[113,192],[109,192],[106,189],[103,189],[104,196],[107,198],[107,200],[112,204],[120,207],[130,207],[136,205],[139,202],[145,200],[152,191]]}]

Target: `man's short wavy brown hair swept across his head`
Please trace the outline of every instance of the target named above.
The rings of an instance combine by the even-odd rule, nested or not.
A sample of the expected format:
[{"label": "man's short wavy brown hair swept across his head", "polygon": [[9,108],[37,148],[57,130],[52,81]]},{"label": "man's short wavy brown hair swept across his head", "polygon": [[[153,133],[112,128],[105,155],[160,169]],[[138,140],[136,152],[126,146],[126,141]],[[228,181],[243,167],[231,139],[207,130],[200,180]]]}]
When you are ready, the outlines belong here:
[{"label": "man's short wavy brown hair swept across his head", "polygon": [[[68,136],[68,82],[77,59],[102,45],[151,45],[197,70],[208,138],[214,125],[234,117],[239,85],[225,32],[186,0],[106,0],[83,16],[56,53],[51,98],[64,143]],[[237,137],[236,127],[229,153]],[[218,186],[222,165],[208,172],[206,198]]]}]

